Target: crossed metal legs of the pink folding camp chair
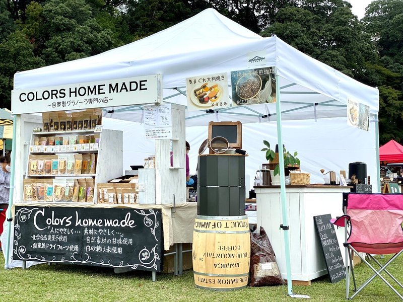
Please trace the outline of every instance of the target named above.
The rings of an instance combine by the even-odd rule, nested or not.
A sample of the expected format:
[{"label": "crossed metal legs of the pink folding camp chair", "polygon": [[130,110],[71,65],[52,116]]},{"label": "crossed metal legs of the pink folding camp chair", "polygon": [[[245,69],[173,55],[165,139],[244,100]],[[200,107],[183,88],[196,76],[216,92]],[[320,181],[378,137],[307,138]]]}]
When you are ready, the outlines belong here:
[{"label": "crossed metal legs of the pink folding camp chair", "polygon": [[[403,299],[403,296],[380,274],[381,272],[385,272],[386,274],[389,275],[389,277],[392,278],[392,280],[394,280],[399,286],[400,288],[403,288],[403,285],[401,285],[401,283],[399,281],[397,281],[397,279],[395,277],[393,277],[387,270],[386,267],[393,262],[393,260],[395,260],[402,252],[403,250],[401,250],[400,252],[398,252],[397,254],[395,254],[392,258],[389,259],[389,261],[387,261],[384,265],[380,264],[372,255],[369,255],[369,259],[373,260],[376,264],[379,265],[380,269],[376,270],[367,260],[365,260],[364,257],[362,257],[353,247],[349,246],[346,249],[348,249],[348,257],[350,260],[350,268],[349,268],[349,275],[347,275],[347,269],[346,269],[346,298],[347,299],[353,299],[365,286],[367,286],[376,276],[379,276],[379,278],[381,278],[383,280],[383,282],[385,282],[386,285],[388,285],[390,287],[390,289],[392,289],[399,297],[400,299]],[[355,281],[355,277],[354,277],[354,269],[353,269],[353,252],[355,252],[360,258],[361,260],[367,264],[373,271],[374,271],[374,275],[372,277],[370,277],[367,281],[365,281],[358,289],[356,286],[356,281]],[[349,296],[350,293],[350,272],[353,275],[353,282],[354,282],[354,291],[355,293],[351,296]],[[348,276],[348,277],[347,277]]]}]

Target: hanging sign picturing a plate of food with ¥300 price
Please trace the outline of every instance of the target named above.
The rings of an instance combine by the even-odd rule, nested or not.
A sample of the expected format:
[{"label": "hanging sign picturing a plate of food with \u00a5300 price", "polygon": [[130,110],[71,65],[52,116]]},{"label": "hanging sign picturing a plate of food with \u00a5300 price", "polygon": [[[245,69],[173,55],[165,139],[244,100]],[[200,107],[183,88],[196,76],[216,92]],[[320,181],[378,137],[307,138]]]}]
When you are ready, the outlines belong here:
[{"label": "hanging sign picturing a plate of food with \u00a5300 price", "polygon": [[186,96],[190,111],[230,107],[227,73],[187,78]]}]

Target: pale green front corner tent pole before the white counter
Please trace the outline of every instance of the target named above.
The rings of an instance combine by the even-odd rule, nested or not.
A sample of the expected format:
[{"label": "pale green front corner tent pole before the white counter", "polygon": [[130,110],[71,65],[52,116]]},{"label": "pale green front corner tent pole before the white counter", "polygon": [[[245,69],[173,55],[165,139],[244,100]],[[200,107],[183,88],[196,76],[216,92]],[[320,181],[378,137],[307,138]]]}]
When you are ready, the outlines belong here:
[{"label": "pale green front corner tent pole before the white counter", "polygon": [[283,134],[281,126],[281,106],[280,106],[280,85],[279,85],[279,75],[276,71],[276,111],[277,111],[277,140],[279,144],[279,166],[280,166],[280,200],[283,212],[283,224],[280,228],[284,232],[284,247],[286,253],[286,270],[287,270],[287,287],[288,294],[293,294],[293,283],[291,277],[291,253],[290,253],[290,236],[289,236],[289,225],[288,225],[288,206],[286,203],[286,180],[284,175],[284,156],[283,156]]}]

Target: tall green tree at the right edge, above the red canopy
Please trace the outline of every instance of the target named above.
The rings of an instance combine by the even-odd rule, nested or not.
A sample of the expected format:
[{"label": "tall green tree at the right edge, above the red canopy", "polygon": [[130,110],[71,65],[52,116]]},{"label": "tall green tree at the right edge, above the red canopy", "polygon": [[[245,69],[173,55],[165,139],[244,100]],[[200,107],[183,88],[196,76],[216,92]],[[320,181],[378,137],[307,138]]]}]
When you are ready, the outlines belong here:
[{"label": "tall green tree at the right edge, above the red canopy", "polygon": [[362,21],[380,57],[367,66],[366,79],[379,87],[379,142],[403,143],[403,1],[374,1]]}]

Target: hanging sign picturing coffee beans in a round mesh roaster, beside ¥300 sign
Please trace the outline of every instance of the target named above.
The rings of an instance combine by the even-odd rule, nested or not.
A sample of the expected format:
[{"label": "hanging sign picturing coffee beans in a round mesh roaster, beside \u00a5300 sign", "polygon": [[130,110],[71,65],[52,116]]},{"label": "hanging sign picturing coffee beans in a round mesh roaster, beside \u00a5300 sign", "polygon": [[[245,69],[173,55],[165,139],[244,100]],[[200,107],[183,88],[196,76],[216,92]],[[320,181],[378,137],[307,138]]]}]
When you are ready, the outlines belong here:
[{"label": "hanging sign picturing coffee beans in a round mesh roaster, beside \u00a5300 sign", "polygon": [[276,102],[274,67],[231,71],[232,105]]}]

